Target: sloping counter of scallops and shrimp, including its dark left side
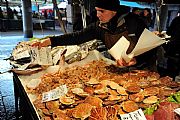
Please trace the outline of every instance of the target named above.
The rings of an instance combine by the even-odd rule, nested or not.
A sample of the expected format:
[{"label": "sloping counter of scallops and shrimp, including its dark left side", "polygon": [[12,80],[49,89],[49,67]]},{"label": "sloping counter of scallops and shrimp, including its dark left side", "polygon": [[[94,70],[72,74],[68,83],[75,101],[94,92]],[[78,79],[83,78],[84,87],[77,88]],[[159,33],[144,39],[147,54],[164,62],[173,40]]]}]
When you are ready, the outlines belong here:
[{"label": "sloping counter of scallops and shrimp, including its dark left side", "polygon": [[[96,56],[96,59],[93,59],[93,56]],[[157,105],[157,109],[161,104],[160,100],[163,105],[168,105],[169,109],[165,109],[165,114],[162,112],[164,108],[158,107],[161,110],[155,111],[154,120],[159,120],[158,116],[161,115],[174,118],[172,120],[179,119],[173,112],[179,104],[170,103],[167,99],[179,91],[179,83],[169,77],[160,78],[158,73],[128,71],[110,65],[112,63],[93,53],[86,60],[71,65],[50,66],[29,76],[14,74],[16,108],[20,98],[19,105],[23,116],[30,120],[63,117],[67,120],[97,119],[101,115],[122,119],[137,115],[139,111],[134,113],[136,110],[145,110],[147,114],[149,111],[145,108]],[[41,82],[38,82],[39,79]],[[68,92],[61,89],[61,93],[65,93],[66,97],[56,92],[53,95],[58,94],[60,97],[57,99],[54,96],[43,99],[44,93],[48,95],[64,85]]]}]

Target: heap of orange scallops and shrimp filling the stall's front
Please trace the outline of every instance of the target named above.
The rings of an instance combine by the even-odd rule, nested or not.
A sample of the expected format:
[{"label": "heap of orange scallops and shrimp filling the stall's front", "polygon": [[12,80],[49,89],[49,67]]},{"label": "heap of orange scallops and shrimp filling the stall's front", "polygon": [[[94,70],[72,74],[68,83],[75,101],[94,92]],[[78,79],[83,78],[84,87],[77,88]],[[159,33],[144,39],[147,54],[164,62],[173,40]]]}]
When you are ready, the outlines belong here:
[{"label": "heap of orange scallops and shrimp filling the stall's front", "polygon": [[[120,115],[140,108],[149,115],[149,108],[164,110],[162,105],[174,94],[178,102],[173,103],[173,109],[180,107],[180,83],[172,78],[145,70],[130,71],[103,60],[47,73],[39,81],[26,89],[28,94],[37,96],[33,104],[42,120],[118,120]],[[62,85],[68,90],[64,96],[42,101],[43,93]],[[169,120],[176,118],[174,115]]]}]

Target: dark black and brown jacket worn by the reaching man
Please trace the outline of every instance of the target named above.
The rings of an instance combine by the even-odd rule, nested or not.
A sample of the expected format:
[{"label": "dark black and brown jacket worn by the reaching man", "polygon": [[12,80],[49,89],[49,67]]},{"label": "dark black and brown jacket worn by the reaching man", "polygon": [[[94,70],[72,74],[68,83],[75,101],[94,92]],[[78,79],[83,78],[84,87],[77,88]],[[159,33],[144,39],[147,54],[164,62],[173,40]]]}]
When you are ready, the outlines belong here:
[{"label": "dark black and brown jacket worn by the reaching man", "polygon": [[[69,33],[61,36],[51,37],[51,45],[77,45],[93,39],[101,40],[105,46],[110,49],[122,36],[130,41],[130,47],[127,53],[130,53],[135,47],[138,38],[143,32],[146,25],[138,17],[134,17],[131,13],[117,13],[107,24],[101,24],[99,21],[89,25],[82,31]],[[136,57],[138,69],[153,70],[155,65],[156,53],[154,50],[146,52]]]}]

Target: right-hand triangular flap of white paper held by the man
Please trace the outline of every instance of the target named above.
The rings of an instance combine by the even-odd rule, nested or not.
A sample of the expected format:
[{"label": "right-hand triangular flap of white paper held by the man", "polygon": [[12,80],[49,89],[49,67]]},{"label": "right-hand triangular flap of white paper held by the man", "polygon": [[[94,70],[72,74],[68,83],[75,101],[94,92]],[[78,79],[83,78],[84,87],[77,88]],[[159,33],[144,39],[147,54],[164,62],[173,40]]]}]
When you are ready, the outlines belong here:
[{"label": "right-hand triangular flap of white paper held by the man", "polygon": [[162,45],[165,42],[165,40],[162,40],[160,37],[149,31],[148,29],[144,29],[138,40],[138,43],[131,53],[133,53],[134,56],[138,56],[159,45]]}]

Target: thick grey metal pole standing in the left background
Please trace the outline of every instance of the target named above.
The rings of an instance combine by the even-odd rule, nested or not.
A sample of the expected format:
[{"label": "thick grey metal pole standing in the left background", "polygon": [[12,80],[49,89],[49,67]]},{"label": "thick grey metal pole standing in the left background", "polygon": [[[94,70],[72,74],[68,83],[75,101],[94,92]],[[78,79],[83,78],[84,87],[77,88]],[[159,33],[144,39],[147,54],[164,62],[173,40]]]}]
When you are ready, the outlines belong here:
[{"label": "thick grey metal pole standing in the left background", "polygon": [[21,0],[23,16],[23,33],[25,38],[33,37],[31,0]]}]

